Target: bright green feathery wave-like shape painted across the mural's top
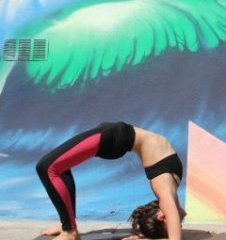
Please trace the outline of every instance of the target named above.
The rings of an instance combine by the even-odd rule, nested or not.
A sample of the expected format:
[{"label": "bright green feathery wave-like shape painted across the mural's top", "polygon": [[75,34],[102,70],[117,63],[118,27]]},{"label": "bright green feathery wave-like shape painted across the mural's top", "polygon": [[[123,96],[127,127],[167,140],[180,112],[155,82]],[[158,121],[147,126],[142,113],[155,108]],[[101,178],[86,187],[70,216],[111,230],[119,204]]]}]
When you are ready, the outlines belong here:
[{"label": "bright green feathery wave-like shape painted across the mural's top", "polygon": [[41,25],[35,37],[48,39],[49,57],[28,63],[29,76],[51,89],[84,87],[168,49],[217,47],[226,41],[226,1],[92,1]]}]

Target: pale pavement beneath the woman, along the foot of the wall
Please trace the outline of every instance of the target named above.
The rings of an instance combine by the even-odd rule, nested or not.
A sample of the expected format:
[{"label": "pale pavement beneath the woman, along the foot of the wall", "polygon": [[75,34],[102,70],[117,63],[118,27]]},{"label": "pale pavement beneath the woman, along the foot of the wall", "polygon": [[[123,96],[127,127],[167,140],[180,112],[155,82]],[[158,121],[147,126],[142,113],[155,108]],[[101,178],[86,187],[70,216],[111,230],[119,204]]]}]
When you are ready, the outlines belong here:
[{"label": "pale pavement beneath the woman, along the foot of the wall", "polygon": [[[54,221],[0,221],[0,240],[47,240],[41,230],[57,225]],[[130,234],[130,225],[124,222],[78,222],[82,240],[120,239]],[[226,240],[226,225],[184,225],[183,240]]]}]

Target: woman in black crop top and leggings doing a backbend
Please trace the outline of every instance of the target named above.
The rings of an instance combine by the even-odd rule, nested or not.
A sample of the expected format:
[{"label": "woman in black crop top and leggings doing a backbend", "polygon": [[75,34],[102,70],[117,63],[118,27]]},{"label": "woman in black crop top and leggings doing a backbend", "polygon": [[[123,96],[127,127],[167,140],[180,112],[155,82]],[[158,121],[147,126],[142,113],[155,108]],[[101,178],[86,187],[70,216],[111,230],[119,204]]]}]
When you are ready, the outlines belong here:
[{"label": "woman in black crop top and leggings doing a backbend", "polygon": [[61,227],[43,235],[59,234],[54,240],[78,240],[75,184],[70,169],[91,157],[117,159],[128,151],[138,154],[158,199],[133,212],[133,233],[137,237],[181,240],[185,216],[177,196],[181,161],[166,138],[124,122],[102,123],[66,141],[38,162],[38,175],[61,220]]}]

